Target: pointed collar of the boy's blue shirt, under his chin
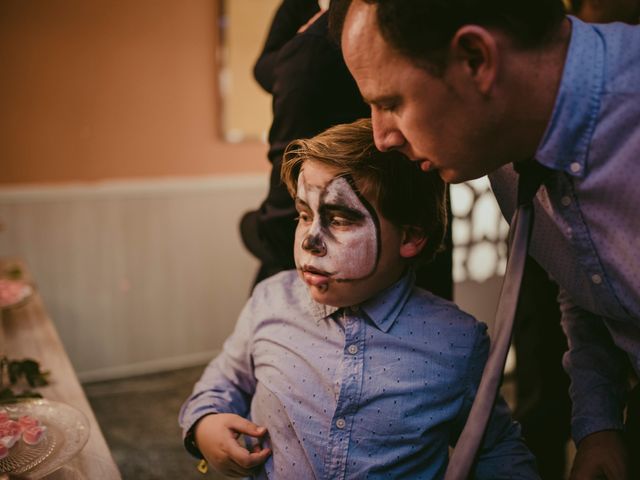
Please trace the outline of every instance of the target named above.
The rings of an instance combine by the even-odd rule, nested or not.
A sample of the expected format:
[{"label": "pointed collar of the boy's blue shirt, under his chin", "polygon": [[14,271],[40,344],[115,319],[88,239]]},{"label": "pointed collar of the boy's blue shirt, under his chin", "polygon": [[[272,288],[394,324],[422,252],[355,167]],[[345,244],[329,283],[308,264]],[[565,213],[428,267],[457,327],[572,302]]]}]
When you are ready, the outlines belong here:
[{"label": "pointed collar of the boy's blue shirt, under his chin", "polygon": [[[351,307],[345,307],[344,309],[351,309],[357,311],[362,309],[364,313],[371,319],[376,327],[383,332],[388,332],[396,318],[402,311],[407,299],[413,289],[415,283],[415,273],[412,269],[409,269],[396,283],[386,288],[378,295],[363,302],[361,305],[354,305]],[[323,305],[313,300],[309,294],[306,285],[304,289],[307,293],[309,300],[309,313],[313,320],[318,323],[321,320],[330,317],[338,310],[344,310],[339,307],[333,307],[331,305]]]}]

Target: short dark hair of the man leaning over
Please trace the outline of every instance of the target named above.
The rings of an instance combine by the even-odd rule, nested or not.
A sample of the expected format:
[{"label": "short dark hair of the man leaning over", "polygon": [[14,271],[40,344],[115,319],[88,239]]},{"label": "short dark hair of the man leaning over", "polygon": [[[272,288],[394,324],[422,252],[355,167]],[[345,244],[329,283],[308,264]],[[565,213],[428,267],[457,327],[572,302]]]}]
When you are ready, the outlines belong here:
[{"label": "short dark hair of the man leaning over", "polygon": [[[563,0],[361,0],[376,5],[385,41],[417,66],[444,71],[447,47],[464,25],[495,28],[521,48],[549,41],[565,16]],[[339,41],[353,0],[333,0],[329,26]]]}]

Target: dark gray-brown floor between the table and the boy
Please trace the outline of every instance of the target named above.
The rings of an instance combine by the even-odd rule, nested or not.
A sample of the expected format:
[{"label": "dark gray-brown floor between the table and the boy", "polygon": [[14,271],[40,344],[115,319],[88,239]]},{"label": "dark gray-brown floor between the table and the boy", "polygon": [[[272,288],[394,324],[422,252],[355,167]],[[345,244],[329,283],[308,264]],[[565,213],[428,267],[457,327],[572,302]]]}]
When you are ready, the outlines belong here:
[{"label": "dark gray-brown floor between the table and the boy", "polygon": [[222,480],[182,446],[178,411],[204,366],[84,384],[124,480]]}]

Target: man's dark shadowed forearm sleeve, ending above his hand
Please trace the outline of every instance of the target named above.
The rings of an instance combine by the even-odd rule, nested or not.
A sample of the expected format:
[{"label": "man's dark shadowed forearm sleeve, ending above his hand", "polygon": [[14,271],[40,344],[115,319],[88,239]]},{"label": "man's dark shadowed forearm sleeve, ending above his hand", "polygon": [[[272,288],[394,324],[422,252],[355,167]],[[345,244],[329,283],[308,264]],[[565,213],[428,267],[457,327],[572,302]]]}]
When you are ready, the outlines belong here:
[{"label": "man's dark shadowed forearm sleeve, ending above his hand", "polygon": [[569,343],[563,365],[571,378],[571,431],[577,444],[591,433],[623,429],[628,362],[602,317],[573,304],[564,290],[558,299]]}]

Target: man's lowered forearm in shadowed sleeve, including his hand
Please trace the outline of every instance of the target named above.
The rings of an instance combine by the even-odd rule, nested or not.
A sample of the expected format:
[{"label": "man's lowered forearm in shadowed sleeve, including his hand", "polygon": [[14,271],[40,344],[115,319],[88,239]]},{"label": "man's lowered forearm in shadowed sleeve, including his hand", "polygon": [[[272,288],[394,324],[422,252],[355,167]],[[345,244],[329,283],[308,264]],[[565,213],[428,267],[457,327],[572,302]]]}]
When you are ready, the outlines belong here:
[{"label": "man's lowered forearm in shadowed sleeve, including his hand", "polygon": [[611,339],[602,317],[558,297],[569,344],[563,364],[571,379],[571,428],[578,447],[572,479],[624,479],[627,452],[622,441],[622,412],[628,362]]}]

